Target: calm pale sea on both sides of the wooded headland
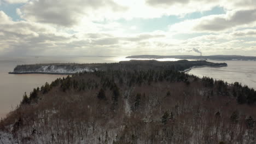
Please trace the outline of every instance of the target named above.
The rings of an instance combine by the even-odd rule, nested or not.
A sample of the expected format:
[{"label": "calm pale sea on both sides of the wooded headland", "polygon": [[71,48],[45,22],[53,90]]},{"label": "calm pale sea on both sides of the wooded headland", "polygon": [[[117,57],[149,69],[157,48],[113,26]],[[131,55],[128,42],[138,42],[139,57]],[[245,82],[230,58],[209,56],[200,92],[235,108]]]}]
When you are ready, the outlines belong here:
[{"label": "calm pale sea on both sides of the wooded headland", "polygon": [[[112,63],[129,61],[125,56],[68,56],[68,57],[0,57],[0,118],[20,103],[24,92],[28,94],[33,88],[44,85],[65,75],[11,75],[19,64],[34,63]],[[158,59],[159,61],[177,61],[178,59]],[[212,61],[223,62],[223,61]],[[238,81],[249,87],[256,88],[256,62],[225,61],[228,67],[223,68],[195,68],[189,71],[199,77],[210,76],[214,79],[222,79],[229,83]]]}]

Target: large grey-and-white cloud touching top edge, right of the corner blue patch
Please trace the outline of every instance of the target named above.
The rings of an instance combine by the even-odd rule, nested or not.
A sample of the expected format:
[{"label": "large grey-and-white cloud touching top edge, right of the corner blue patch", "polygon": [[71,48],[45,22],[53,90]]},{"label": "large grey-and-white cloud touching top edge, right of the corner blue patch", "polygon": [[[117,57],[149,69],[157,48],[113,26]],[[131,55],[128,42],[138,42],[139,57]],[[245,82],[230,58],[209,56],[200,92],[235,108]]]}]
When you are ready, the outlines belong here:
[{"label": "large grey-and-white cloud touching top edge, right of the corner blue patch", "polygon": [[109,11],[114,14],[125,10],[112,0],[33,0],[20,8],[23,19],[65,27],[77,25],[83,19],[102,20]]}]

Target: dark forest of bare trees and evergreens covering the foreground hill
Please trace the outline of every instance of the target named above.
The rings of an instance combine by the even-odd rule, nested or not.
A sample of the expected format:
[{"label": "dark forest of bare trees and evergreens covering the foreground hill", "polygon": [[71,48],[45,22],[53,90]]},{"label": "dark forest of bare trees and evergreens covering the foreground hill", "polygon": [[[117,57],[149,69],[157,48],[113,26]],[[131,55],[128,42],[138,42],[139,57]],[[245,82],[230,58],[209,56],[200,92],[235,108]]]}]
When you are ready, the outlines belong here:
[{"label": "dark forest of bare trees and evergreens covering the foreground hill", "polygon": [[24,93],[0,143],[255,143],[254,89],[185,74],[184,63],[115,65]]}]

